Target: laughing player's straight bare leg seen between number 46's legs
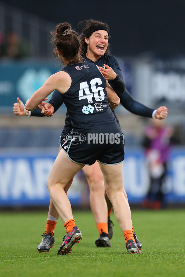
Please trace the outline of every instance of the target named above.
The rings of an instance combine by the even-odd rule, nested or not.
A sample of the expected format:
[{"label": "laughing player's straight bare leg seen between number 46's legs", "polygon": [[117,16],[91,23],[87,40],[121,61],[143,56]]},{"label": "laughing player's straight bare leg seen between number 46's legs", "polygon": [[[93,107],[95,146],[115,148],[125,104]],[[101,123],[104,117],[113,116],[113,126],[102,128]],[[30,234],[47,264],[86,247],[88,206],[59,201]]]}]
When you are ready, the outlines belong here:
[{"label": "laughing player's straight bare leg seen between number 46's legs", "polygon": [[84,166],[85,177],[90,190],[90,206],[96,224],[107,222],[107,204],[104,197],[104,181],[98,162],[91,166]]}]

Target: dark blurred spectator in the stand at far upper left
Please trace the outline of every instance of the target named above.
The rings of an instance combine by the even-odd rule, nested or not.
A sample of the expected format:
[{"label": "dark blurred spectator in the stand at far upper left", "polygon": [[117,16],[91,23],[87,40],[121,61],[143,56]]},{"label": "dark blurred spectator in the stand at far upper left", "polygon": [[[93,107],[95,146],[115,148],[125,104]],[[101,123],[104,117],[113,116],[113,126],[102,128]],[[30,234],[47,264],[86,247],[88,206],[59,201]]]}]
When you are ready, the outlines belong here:
[{"label": "dark blurred spectator in the stand at far upper left", "polygon": [[9,32],[6,35],[6,40],[2,43],[2,57],[8,57],[12,59],[20,59],[28,57],[29,45],[23,39],[19,37],[15,32]]}]

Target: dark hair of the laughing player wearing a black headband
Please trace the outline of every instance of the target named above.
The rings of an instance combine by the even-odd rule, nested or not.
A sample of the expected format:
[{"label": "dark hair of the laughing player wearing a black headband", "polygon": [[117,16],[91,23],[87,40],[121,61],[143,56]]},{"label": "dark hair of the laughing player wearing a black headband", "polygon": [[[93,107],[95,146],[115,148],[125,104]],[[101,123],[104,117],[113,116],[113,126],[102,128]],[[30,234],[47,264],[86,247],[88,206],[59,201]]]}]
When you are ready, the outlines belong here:
[{"label": "dark hair of the laughing player wearing a black headband", "polygon": [[[96,26],[102,26],[103,30],[104,30],[104,28],[106,28],[108,30],[108,33],[110,32],[110,29],[109,29],[109,26],[107,25],[107,23],[97,21],[94,19],[87,19],[87,20],[80,21],[78,23],[78,26],[80,26],[80,25],[83,25],[82,33],[80,35],[81,54],[87,53],[87,43],[85,42],[85,38],[89,38],[91,36],[91,34],[93,33],[93,31],[87,32],[89,29],[91,29],[92,27],[96,27]],[[84,34],[86,34],[86,35],[84,36]],[[110,35],[109,35],[109,38],[110,38]],[[107,46],[107,50],[105,51],[105,54],[109,54],[109,50],[108,50],[109,45],[110,45],[110,43]]]}]

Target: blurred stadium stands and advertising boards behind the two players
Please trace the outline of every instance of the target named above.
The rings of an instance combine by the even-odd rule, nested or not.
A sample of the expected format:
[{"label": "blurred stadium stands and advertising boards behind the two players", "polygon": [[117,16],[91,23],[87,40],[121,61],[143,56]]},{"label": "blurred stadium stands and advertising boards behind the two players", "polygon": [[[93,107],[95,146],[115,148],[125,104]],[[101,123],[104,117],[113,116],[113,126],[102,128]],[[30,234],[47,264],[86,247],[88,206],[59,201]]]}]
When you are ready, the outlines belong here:
[{"label": "blurred stadium stands and advertising boards behind the two players", "polygon": [[[0,1],[0,207],[48,206],[47,177],[58,153],[64,126],[63,105],[51,118],[16,117],[13,103],[25,103],[60,68],[52,57],[50,31],[59,22],[94,18],[111,30],[110,54],[120,62],[126,88],[151,108],[167,106],[166,123],[175,130],[166,207],[185,204],[185,40],[182,0]],[[10,34],[19,48],[7,50]],[[18,43],[20,42],[20,44]],[[14,49],[14,48],[13,48]],[[17,52],[16,52],[17,51]],[[18,54],[16,54],[18,53]],[[116,110],[125,134],[124,187],[131,205],[145,198],[149,176],[141,145],[148,120]],[[68,193],[75,207],[89,207],[82,172]]]}]

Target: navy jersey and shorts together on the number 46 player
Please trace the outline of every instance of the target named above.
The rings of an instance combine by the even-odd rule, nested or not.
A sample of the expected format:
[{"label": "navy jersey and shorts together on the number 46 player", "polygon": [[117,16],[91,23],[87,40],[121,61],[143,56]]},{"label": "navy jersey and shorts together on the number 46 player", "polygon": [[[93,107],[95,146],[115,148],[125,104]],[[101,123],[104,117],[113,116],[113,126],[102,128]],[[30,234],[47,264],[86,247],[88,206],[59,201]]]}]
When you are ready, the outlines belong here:
[{"label": "navy jersey and shorts together on the number 46 player", "polygon": [[[61,147],[66,151],[68,158],[77,163],[92,165],[96,160],[106,164],[120,163],[124,159],[123,135],[109,107],[105,89],[109,84],[93,63],[68,64],[63,71],[72,79],[69,90],[63,94],[71,118],[72,132],[65,135],[60,142]],[[101,144],[99,134],[102,134]],[[119,146],[115,147],[119,148],[119,151],[117,155],[107,154],[107,159],[107,156],[104,157],[102,154],[110,139],[117,141]],[[111,146],[113,150],[113,144],[109,147]]]}]

